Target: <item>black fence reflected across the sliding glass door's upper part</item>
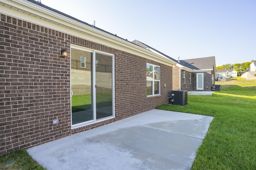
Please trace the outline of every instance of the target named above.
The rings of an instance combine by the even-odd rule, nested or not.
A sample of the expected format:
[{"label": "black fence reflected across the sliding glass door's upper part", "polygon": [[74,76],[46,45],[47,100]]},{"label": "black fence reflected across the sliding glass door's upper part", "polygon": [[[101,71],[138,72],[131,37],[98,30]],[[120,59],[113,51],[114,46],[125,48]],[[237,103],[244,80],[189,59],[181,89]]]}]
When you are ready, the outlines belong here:
[{"label": "black fence reflected across the sliding glass door's upper part", "polygon": [[[78,60],[71,60],[71,69],[91,71],[92,63],[82,63]],[[107,64],[96,64],[96,72],[112,72],[112,66]]]}]

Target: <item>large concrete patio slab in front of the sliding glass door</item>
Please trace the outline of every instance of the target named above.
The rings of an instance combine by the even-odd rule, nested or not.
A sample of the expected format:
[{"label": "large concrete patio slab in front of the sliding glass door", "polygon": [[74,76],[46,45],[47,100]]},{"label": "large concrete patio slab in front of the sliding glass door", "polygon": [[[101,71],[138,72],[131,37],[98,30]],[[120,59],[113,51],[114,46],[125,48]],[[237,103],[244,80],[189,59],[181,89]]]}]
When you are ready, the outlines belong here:
[{"label": "large concrete patio slab in front of the sliding glass door", "polygon": [[48,170],[189,170],[212,119],[153,109],[27,151]]}]

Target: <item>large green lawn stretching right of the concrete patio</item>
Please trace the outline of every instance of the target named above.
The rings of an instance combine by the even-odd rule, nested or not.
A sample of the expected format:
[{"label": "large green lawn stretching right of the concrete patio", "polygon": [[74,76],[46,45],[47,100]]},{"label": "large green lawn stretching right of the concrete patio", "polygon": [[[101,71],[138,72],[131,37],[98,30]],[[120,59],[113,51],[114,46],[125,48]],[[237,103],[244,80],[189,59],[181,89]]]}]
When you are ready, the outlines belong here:
[{"label": "large green lawn stretching right of the concrete patio", "polygon": [[256,169],[256,80],[234,79],[220,82],[222,91],[212,96],[189,95],[186,106],[157,107],[214,116],[193,170]]}]

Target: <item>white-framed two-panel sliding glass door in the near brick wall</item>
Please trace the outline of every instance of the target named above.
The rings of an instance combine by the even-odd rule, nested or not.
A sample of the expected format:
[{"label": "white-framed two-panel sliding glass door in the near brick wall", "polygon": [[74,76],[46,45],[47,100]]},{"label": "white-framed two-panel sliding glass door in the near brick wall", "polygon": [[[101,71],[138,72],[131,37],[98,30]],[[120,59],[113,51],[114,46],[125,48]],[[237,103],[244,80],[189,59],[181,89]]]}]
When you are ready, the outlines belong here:
[{"label": "white-framed two-panel sliding glass door in the near brick wall", "polygon": [[113,55],[71,48],[72,126],[114,117]]}]

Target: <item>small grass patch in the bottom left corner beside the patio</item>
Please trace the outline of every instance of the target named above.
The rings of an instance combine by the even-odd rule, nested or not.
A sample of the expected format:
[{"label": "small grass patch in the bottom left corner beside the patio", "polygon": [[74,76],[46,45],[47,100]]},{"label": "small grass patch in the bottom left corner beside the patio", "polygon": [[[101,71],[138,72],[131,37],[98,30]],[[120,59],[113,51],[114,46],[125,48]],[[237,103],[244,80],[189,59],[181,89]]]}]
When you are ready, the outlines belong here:
[{"label": "small grass patch in the bottom left corner beside the patio", "polygon": [[21,149],[0,156],[1,170],[46,170]]}]

